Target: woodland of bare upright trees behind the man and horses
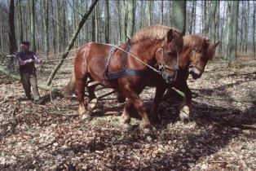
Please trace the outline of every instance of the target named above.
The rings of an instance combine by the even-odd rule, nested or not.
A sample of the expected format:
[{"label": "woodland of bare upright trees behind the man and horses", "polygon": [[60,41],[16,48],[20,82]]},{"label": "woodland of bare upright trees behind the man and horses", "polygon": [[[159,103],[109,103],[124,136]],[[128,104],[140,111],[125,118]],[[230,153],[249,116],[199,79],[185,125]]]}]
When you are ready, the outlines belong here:
[{"label": "woodland of bare upright trees behind the man and horses", "polygon": [[[32,50],[45,55],[64,51],[90,3],[90,0],[2,0],[0,51],[13,54],[20,50],[21,40],[29,40]],[[218,55],[234,61],[234,51],[255,56],[255,10],[255,1],[100,0],[74,46],[91,41],[117,44],[145,26],[164,24],[186,34],[199,33],[220,40]]]}]

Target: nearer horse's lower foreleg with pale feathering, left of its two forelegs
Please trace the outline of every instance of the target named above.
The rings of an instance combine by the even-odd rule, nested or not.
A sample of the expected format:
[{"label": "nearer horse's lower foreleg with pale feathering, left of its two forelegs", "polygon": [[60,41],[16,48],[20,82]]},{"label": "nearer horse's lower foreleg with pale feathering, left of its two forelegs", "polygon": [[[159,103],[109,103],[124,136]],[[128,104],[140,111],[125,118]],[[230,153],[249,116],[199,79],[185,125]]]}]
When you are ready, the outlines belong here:
[{"label": "nearer horse's lower foreleg with pale feathering, left of its two forelegs", "polygon": [[124,111],[121,114],[120,118],[120,125],[123,126],[125,129],[130,129],[130,110],[133,107],[133,103],[130,99],[126,101],[126,105]]}]

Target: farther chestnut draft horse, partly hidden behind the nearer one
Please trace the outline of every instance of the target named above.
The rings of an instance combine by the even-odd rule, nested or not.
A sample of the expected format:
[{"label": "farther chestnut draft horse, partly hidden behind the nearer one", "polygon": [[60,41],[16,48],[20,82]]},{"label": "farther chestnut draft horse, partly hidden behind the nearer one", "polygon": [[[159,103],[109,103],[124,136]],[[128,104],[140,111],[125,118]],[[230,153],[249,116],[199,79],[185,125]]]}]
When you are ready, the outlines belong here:
[{"label": "farther chestnut draft horse, partly hidden behind the nearer one", "polygon": [[[213,59],[218,43],[214,43],[200,35],[186,35],[183,37],[183,50],[179,55],[179,72],[173,86],[181,90],[184,100],[180,107],[179,118],[188,121],[191,111],[192,91],[188,88],[189,74],[193,79],[200,78],[209,60]],[[170,89],[166,95],[170,94]]]}]

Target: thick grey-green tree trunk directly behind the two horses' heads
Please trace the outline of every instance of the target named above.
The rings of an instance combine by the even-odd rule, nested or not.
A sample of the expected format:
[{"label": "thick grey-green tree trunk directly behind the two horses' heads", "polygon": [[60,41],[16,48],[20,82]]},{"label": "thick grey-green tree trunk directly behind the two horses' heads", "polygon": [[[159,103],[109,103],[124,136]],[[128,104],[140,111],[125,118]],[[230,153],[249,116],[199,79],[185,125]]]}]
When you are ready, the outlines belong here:
[{"label": "thick grey-green tree trunk directly behind the two horses' heads", "polygon": [[174,1],[172,11],[172,27],[183,33],[186,31],[186,1]]}]

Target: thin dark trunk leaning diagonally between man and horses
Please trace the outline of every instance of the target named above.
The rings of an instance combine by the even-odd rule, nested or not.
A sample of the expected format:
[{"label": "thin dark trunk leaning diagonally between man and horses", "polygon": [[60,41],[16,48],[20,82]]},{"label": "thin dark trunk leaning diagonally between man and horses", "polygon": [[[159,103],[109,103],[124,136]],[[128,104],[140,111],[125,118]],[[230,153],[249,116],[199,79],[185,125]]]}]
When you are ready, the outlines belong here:
[{"label": "thin dark trunk leaning diagonally between man and horses", "polygon": [[51,81],[53,80],[53,78],[55,77],[56,73],[58,72],[59,68],[61,67],[61,65],[64,62],[64,59],[68,56],[69,51],[71,50],[73,47],[73,44],[77,38],[78,33],[80,32],[80,30],[82,29],[83,24],[85,24],[86,20],[88,19],[91,11],[94,9],[96,3],[98,2],[98,0],[94,0],[91,2],[90,8],[89,10],[82,16],[82,20],[80,20],[78,26],[77,26],[77,30],[74,31],[73,36],[71,37],[68,46],[66,47],[66,50],[64,52],[64,54],[62,55],[60,62],[58,64],[55,65],[55,68],[52,70],[50,77],[48,78],[48,81],[46,83],[46,85],[51,85]]}]

